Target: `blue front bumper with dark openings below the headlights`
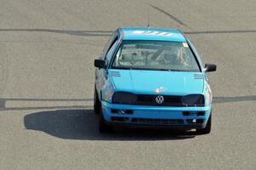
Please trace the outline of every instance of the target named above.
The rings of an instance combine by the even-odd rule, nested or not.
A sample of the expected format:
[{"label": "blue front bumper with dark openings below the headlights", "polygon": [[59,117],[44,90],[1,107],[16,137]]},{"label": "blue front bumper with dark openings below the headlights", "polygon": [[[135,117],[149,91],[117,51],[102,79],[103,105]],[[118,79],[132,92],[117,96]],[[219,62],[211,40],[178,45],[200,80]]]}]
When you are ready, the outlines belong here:
[{"label": "blue front bumper with dark openings below the headlights", "polygon": [[108,124],[179,129],[204,128],[212,111],[205,107],[117,105],[102,101],[102,115]]}]

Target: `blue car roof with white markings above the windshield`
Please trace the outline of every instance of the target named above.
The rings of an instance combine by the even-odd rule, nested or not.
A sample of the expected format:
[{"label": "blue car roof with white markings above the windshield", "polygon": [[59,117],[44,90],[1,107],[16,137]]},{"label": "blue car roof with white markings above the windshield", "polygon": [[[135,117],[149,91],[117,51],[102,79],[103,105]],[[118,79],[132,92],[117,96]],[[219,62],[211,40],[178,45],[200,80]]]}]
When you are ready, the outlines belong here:
[{"label": "blue car roof with white markings above the windshield", "polygon": [[154,27],[125,27],[121,28],[124,40],[155,40],[186,42],[181,31]]}]

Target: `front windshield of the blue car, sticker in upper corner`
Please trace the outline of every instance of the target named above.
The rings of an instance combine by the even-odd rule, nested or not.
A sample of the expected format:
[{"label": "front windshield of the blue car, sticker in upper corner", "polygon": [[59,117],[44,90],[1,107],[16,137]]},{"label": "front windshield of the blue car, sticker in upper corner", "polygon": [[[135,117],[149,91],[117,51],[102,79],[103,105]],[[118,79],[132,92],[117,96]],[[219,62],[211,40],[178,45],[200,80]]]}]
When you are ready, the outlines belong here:
[{"label": "front windshield of the blue car, sticker in upper corner", "polygon": [[200,71],[187,42],[123,41],[112,68]]}]

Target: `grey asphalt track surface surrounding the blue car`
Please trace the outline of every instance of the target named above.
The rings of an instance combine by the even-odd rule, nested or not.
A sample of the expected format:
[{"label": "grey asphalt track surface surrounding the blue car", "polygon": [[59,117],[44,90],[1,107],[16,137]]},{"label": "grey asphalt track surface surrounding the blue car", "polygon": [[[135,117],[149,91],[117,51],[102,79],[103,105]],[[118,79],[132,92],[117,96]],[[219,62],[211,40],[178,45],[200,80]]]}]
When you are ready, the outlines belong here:
[{"label": "grey asphalt track surface surrounding the blue car", "polygon": [[[209,73],[212,133],[97,131],[93,60],[119,26],[179,28]],[[256,169],[256,3],[0,5],[0,169]]]}]

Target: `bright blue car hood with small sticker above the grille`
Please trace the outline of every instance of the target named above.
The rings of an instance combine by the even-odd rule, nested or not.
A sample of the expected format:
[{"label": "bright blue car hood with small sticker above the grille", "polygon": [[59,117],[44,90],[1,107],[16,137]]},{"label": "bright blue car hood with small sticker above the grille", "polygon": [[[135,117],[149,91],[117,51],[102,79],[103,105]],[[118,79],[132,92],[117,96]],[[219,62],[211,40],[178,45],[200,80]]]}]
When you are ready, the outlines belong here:
[{"label": "bright blue car hood with small sticker above the grille", "polygon": [[109,70],[116,91],[134,94],[202,94],[205,75],[188,71]]}]

